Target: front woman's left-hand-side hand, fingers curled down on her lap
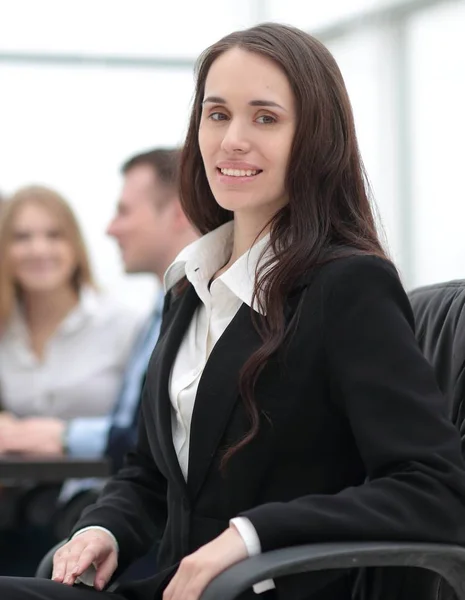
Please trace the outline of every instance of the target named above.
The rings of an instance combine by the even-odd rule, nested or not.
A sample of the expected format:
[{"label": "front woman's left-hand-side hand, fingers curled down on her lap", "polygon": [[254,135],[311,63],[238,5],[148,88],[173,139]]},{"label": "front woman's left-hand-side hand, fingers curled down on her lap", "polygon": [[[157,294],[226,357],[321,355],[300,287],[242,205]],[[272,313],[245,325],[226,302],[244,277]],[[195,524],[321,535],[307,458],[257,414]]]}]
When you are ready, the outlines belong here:
[{"label": "front woman's left-hand-side hand, fingers curled down on her lap", "polygon": [[89,529],[73,537],[53,557],[53,581],[74,585],[89,567],[95,568],[94,587],[102,590],[118,566],[114,539],[101,529]]}]

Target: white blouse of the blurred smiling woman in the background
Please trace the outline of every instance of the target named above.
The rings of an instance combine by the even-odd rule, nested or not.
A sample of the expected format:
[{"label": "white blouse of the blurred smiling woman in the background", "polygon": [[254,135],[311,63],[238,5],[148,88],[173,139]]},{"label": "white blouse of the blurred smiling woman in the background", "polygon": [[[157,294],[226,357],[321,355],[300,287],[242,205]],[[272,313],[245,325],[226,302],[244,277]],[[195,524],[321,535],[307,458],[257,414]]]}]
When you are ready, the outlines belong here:
[{"label": "white blouse of the blurred smiling woman in the background", "polygon": [[108,413],[141,317],[85,288],[39,359],[19,308],[0,338],[0,406],[20,417],[65,420]]}]

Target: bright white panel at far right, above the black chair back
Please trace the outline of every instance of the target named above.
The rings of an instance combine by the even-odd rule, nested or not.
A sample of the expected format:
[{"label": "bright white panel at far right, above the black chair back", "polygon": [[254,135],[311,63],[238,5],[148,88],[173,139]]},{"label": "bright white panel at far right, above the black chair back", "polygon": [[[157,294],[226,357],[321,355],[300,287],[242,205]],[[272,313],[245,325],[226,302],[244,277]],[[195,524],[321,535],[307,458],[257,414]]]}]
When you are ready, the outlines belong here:
[{"label": "bright white panel at far right, above the black chair back", "polygon": [[465,278],[465,2],[411,24],[414,284]]}]

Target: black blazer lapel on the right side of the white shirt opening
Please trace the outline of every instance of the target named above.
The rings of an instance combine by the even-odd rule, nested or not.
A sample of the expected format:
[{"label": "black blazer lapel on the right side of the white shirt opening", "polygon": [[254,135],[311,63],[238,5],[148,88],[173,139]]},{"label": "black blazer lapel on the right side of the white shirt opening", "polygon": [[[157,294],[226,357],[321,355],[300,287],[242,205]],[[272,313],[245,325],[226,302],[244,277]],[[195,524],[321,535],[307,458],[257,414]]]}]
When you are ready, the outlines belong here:
[{"label": "black blazer lapel on the right side of the white shirt opening", "polygon": [[243,304],[214,346],[197,390],[189,448],[188,490],[192,499],[200,491],[239,397],[239,371],[260,344],[250,307]]}]

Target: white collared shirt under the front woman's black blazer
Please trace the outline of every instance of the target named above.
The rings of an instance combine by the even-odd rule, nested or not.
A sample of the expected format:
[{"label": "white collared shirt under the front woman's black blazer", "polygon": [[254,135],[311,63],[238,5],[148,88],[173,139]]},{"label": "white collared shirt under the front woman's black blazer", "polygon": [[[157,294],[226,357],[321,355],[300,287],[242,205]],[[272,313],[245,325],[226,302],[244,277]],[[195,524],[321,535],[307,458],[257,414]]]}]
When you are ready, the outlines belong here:
[{"label": "white collared shirt under the front woman's black blazer", "polygon": [[[186,276],[201,300],[179,347],[169,383],[173,444],[186,480],[192,414],[202,372],[241,305],[252,306],[255,271],[269,239],[266,236],[258,241],[210,285],[231,256],[233,227],[232,222],[226,223],[187,246],[165,274],[166,291]],[[256,304],[253,308],[258,312]],[[260,539],[252,523],[245,517],[236,517],[231,523],[242,536],[249,556],[260,554]],[[253,589],[260,594],[274,587],[273,580],[268,579]]]}]

